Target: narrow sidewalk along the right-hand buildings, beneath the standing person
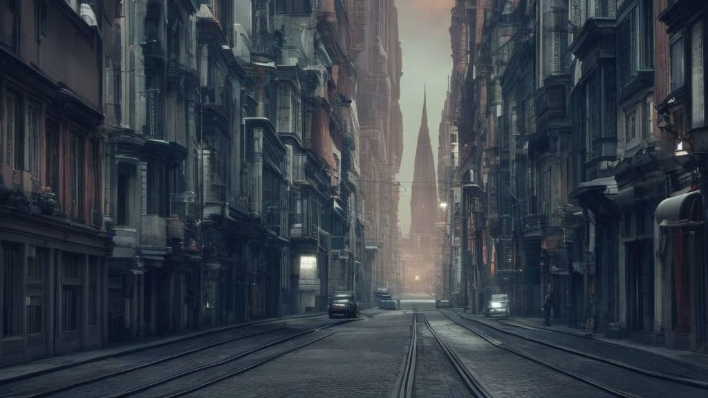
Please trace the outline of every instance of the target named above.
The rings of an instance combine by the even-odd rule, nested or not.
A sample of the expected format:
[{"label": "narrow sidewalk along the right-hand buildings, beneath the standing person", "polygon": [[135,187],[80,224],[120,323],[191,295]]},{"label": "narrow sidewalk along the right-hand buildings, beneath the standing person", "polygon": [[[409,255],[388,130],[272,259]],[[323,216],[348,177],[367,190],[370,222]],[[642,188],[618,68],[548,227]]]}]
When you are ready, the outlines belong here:
[{"label": "narrow sidewalk along the right-hand buildings, beneath the standing person", "polygon": [[[551,319],[551,326],[544,326],[543,318],[525,318],[525,317],[509,317],[506,321],[515,324],[515,326],[520,327],[530,327],[536,329],[547,329],[549,331],[554,331],[562,334],[569,334],[571,336],[581,336],[584,337],[586,332],[582,329],[571,328],[564,324],[559,324],[557,319]],[[554,324],[554,321],[556,324]],[[663,356],[678,362],[687,363],[689,365],[695,365],[700,368],[708,370],[708,355],[702,353],[696,353],[694,351],[678,351],[672,350],[670,348],[647,346],[642,343],[637,343],[636,341],[627,339],[607,339],[605,334],[593,334],[593,340],[603,341],[604,343],[617,344],[618,346],[624,346],[628,348],[634,348],[636,350],[646,351],[653,353],[658,356]]]}]

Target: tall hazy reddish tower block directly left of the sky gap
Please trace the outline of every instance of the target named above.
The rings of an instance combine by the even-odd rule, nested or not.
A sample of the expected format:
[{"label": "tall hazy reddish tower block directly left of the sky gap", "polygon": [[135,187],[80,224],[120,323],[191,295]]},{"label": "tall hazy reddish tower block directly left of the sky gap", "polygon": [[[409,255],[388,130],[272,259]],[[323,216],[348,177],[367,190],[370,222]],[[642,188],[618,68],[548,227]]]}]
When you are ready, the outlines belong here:
[{"label": "tall hazy reddish tower block directly left of the sky gap", "polygon": [[365,198],[362,282],[368,286],[368,300],[372,300],[373,289],[395,287],[400,278],[399,185],[394,177],[403,155],[401,44],[394,1],[355,0],[353,10],[361,188]]}]

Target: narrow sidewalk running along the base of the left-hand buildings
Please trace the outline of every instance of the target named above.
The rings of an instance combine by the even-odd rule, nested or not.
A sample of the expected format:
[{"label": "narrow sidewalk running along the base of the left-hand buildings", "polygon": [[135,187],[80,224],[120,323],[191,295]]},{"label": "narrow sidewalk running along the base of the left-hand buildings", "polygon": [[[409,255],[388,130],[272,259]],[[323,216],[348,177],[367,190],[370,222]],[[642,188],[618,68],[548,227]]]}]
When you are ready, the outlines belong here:
[{"label": "narrow sidewalk running along the base of the left-hand buildings", "polygon": [[313,314],[297,314],[288,315],[287,317],[281,318],[268,318],[268,319],[258,319],[257,321],[244,322],[241,324],[231,324],[228,326],[218,326],[209,329],[202,329],[199,331],[193,331],[185,334],[177,334],[169,337],[162,337],[156,339],[149,339],[146,341],[141,341],[139,343],[123,343],[120,345],[109,346],[106,348],[99,348],[97,350],[91,351],[79,351],[76,353],[69,353],[63,356],[55,356],[51,358],[45,358],[40,360],[35,360],[33,362],[21,363],[18,365],[12,365],[5,368],[0,368],[0,384],[6,382],[21,380],[26,377],[32,377],[36,375],[41,375],[44,373],[51,373],[56,370],[62,370],[65,368],[72,368],[78,365],[84,365],[86,363],[96,362],[98,360],[103,360],[111,358],[114,356],[127,355],[129,353],[134,353],[136,351],[142,351],[149,348],[156,348],[159,346],[165,346],[169,343],[174,343],[176,341],[183,341],[187,339],[193,339],[195,337],[204,336],[206,334],[217,333],[219,331],[224,331],[227,329],[233,329],[234,327],[244,327],[257,324],[268,324],[280,321],[285,321],[288,319],[298,319],[298,318],[312,318],[319,315],[325,315],[326,312],[317,312]]}]

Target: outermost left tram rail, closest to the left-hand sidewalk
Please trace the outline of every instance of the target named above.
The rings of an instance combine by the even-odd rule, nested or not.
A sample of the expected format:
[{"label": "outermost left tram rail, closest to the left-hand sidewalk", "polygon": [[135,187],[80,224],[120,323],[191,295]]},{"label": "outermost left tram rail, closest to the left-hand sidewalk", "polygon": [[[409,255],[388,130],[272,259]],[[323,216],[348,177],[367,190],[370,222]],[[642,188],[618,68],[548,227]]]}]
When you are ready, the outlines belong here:
[{"label": "outermost left tram rail, closest to the left-hand sidewalk", "polygon": [[160,343],[154,343],[154,344],[149,344],[149,343],[148,343],[148,344],[146,344],[145,346],[136,347],[136,348],[130,348],[130,349],[126,350],[126,351],[121,351],[121,352],[119,352],[119,353],[109,353],[109,354],[105,354],[105,355],[102,355],[102,356],[96,356],[96,357],[93,357],[93,358],[89,358],[89,359],[86,359],[86,360],[79,360],[79,361],[76,361],[76,362],[74,362],[74,363],[65,363],[65,364],[63,364],[63,365],[55,366],[55,367],[53,367],[53,368],[46,368],[46,369],[42,369],[42,370],[36,370],[35,372],[25,373],[25,374],[23,374],[23,375],[17,375],[17,376],[14,376],[14,377],[8,377],[8,378],[1,379],[1,380],[0,380],[0,386],[8,385],[8,384],[11,384],[11,383],[13,383],[13,382],[19,382],[19,381],[22,381],[22,380],[28,380],[28,379],[31,379],[31,378],[33,378],[33,377],[38,377],[38,376],[41,376],[41,375],[47,375],[47,374],[50,374],[50,373],[55,373],[55,372],[58,372],[59,370],[65,370],[65,369],[76,368],[76,367],[79,367],[79,366],[81,366],[81,365],[86,365],[86,364],[88,364],[88,363],[96,363],[96,362],[99,362],[99,361],[101,361],[101,360],[106,360],[106,359],[110,359],[110,358],[119,358],[119,357],[121,357],[121,356],[127,356],[127,355],[130,355],[130,354],[132,354],[132,353],[138,353],[138,352],[140,352],[140,351],[147,351],[147,350],[152,350],[153,348],[160,348],[160,347],[164,347],[164,346],[169,346],[169,345],[171,345],[171,344],[178,344],[178,343],[181,343],[181,342],[183,342],[183,341],[187,341],[187,340],[191,340],[191,339],[198,339],[198,338],[200,338],[200,337],[208,336],[208,335],[210,335],[210,334],[221,333],[222,331],[230,331],[230,330],[234,330],[234,329],[242,329],[242,328],[244,328],[244,327],[255,326],[255,325],[260,325],[260,324],[275,324],[275,323],[279,323],[279,322],[287,322],[287,321],[290,321],[290,320],[316,318],[316,317],[321,317],[321,316],[326,315],[326,314],[327,314],[326,312],[317,312],[316,314],[308,314],[308,315],[302,315],[302,316],[298,316],[298,317],[284,317],[284,318],[262,319],[262,320],[259,320],[259,321],[247,322],[247,323],[244,323],[244,324],[235,324],[235,325],[223,326],[223,327],[219,327],[219,328],[215,328],[215,329],[208,329],[208,330],[204,330],[204,331],[197,332],[197,333],[195,333],[195,334],[191,334],[191,335],[189,335],[189,336],[177,337],[177,338],[175,338],[175,339],[169,339],[168,341],[162,341],[162,342],[160,342]]}]

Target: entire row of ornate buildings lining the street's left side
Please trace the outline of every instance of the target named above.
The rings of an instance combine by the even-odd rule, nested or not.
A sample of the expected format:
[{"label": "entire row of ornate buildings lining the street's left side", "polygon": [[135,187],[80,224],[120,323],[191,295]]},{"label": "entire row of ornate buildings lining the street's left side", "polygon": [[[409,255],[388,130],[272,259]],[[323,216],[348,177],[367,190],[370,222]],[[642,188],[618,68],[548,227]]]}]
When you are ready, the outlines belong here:
[{"label": "entire row of ornate buildings lining the street's left side", "polygon": [[1,365],[396,280],[395,188],[368,193],[385,211],[365,238],[358,105],[362,76],[392,88],[370,164],[393,181],[392,2],[13,0],[0,20]]}]

